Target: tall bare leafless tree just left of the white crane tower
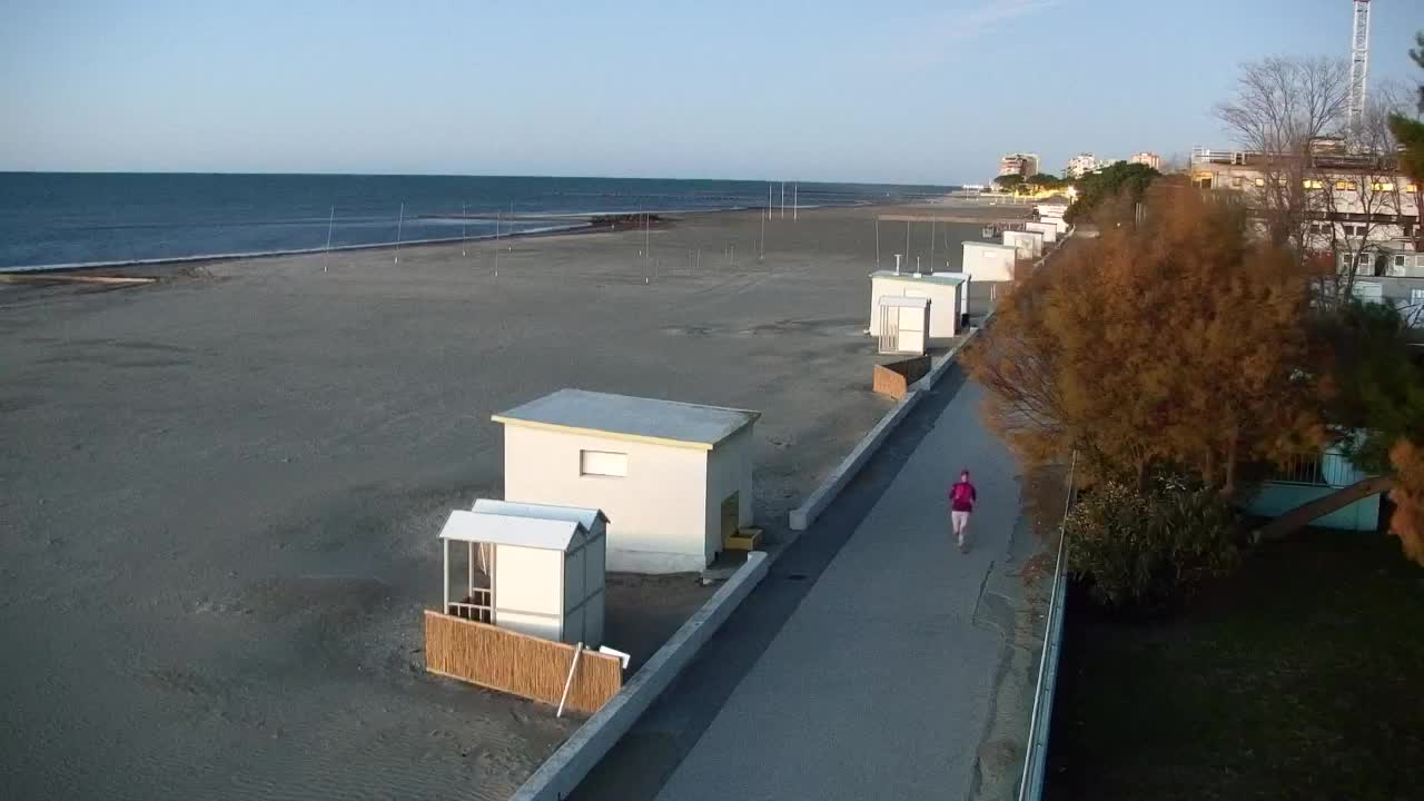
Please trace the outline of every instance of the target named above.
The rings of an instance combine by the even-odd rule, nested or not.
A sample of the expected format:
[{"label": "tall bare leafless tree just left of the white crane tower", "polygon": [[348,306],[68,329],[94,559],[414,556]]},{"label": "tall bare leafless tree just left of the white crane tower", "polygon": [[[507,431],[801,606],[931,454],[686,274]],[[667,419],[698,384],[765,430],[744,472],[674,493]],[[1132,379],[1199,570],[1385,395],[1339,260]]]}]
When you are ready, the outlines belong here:
[{"label": "tall bare leafless tree just left of the white crane tower", "polygon": [[1255,154],[1262,182],[1255,192],[1267,238],[1304,258],[1310,219],[1321,208],[1313,180],[1316,145],[1344,128],[1349,66],[1336,58],[1266,58],[1242,64],[1236,94],[1216,117]]}]

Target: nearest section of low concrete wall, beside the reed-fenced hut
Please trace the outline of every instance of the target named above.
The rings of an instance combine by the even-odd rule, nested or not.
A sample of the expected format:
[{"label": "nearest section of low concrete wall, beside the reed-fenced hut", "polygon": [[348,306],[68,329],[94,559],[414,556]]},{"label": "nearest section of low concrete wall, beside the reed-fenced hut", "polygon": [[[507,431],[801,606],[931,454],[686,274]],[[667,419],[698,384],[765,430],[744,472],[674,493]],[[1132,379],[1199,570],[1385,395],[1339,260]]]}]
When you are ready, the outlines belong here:
[{"label": "nearest section of low concrete wall, beside the reed-fenced hut", "polygon": [[561,801],[578,787],[588,771],[604,758],[614,744],[642,717],[652,701],[668,688],[668,684],[692,657],[702,650],[712,634],[738,606],[746,600],[762,579],[766,577],[766,554],[746,554],[746,564],[722,584],[718,591],[698,609],[686,623],[669,639],[658,653],[652,654],[604,708],[584,721],[574,734],[554,751],[544,764],[510,797],[510,801]]}]

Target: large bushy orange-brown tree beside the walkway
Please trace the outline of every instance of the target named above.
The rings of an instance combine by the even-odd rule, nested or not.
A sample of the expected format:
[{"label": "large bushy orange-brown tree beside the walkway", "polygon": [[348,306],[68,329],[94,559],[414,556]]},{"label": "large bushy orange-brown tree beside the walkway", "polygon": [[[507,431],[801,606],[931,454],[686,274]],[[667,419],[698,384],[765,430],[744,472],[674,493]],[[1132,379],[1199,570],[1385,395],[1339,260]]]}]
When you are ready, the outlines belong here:
[{"label": "large bushy orange-brown tree beside the walkway", "polygon": [[1125,187],[1098,239],[1015,285],[965,361],[1028,463],[1077,450],[1098,480],[1185,470],[1232,495],[1240,465],[1324,436],[1303,369],[1313,274],[1253,241],[1230,197],[1158,181],[1141,225],[1135,204]]}]

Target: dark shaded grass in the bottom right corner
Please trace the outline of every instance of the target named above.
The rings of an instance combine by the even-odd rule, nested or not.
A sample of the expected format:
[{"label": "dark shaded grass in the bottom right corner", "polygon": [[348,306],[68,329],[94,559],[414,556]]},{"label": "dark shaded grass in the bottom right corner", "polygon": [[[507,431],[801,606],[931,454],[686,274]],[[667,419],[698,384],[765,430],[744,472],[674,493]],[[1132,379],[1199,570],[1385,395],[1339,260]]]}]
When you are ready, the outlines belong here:
[{"label": "dark shaded grass in the bottom right corner", "polygon": [[1424,569],[1394,537],[1263,546],[1149,623],[1069,593],[1049,800],[1420,797]]}]

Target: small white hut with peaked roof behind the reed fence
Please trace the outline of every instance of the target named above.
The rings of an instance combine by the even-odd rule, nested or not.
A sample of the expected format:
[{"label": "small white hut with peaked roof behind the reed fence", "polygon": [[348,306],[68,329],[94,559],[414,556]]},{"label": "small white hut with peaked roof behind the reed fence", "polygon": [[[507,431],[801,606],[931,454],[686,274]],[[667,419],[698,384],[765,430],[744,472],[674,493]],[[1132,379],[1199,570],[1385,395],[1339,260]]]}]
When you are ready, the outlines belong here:
[{"label": "small white hut with peaked roof behind the reed fence", "polygon": [[[604,639],[605,532],[597,509],[478,500],[450,513],[446,614],[557,643],[597,648]],[[451,591],[450,544],[466,547],[464,589]]]}]

